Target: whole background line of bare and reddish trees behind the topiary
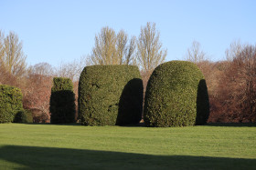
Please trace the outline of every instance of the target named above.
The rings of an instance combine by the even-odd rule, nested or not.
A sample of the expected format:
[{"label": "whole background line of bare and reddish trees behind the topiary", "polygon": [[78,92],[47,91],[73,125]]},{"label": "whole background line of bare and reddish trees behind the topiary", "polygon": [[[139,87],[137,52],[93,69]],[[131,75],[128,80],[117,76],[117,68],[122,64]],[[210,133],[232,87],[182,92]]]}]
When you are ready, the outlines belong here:
[{"label": "whole background line of bare and reddish trees behind the topiary", "polygon": [[[82,56],[80,60],[57,67],[48,63],[27,66],[27,56],[18,36],[0,31],[0,84],[19,87],[24,108],[33,113],[34,122],[49,122],[53,77],[72,80],[77,105],[78,82],[84,66],[137,65],[145,91],[149,76],[165,61],[166,55],[155,24],[147,23],[137,38],[129,37],[123,30],[115,33],[112,28],[103,27],[95,35],[91,55]],[[197,64],[205,75],[210,103],[208,122],[256,122],[256,45],[232,43],[226,57],[224,61],[210,61],[196,41],[185,56],[185,60]]]}]

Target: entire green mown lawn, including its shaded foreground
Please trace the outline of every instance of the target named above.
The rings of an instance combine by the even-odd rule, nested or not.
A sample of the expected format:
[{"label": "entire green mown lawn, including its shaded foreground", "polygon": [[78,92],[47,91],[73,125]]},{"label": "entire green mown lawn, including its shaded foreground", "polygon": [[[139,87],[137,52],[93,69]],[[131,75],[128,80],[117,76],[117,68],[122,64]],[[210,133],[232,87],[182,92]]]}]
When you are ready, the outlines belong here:
[{"label": "entire green mown lawn, including its shaded foreground", "polygon": [[0,169],[256,169],[256,126],[0,124]]}]

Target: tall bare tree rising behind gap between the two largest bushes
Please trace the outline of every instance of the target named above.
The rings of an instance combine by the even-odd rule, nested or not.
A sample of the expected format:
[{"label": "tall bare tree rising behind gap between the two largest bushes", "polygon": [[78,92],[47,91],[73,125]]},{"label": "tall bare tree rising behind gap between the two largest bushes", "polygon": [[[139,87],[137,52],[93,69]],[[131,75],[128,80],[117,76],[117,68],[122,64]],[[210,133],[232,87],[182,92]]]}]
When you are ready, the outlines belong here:
[{"label": "tall bare tree rising behind gap between the two largest bushes", "polygon": [[137,64],[144,72],[152,72],[157,65],[165,61],[167,50],[162,50],[159,40],[159,32],[155,23],[147,23],[141,28],[141,34],[137,42]]}]

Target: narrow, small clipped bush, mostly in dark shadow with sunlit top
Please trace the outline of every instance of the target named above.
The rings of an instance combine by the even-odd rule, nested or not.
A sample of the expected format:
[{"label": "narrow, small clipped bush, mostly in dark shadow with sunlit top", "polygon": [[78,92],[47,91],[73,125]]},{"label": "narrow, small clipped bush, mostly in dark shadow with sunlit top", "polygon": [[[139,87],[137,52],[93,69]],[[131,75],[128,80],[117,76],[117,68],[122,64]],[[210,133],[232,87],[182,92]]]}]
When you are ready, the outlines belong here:
[{"label": "narrow, small clipped bush, mostly in dark shadow with sunlit top", "polygon": [[50,95],[51,124],[75,122],[76,105],[73,84],[69,78],[54,77]]}]

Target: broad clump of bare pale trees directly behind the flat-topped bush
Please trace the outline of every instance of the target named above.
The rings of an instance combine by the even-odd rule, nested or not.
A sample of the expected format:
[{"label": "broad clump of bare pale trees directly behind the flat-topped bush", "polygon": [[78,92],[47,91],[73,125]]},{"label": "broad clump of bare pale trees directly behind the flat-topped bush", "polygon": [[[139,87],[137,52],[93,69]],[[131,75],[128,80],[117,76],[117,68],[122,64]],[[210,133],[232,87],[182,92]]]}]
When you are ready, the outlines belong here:
[{"label": "broad clump of bare pale trees directly behind the flat-topped bush", "polygon": [[[130,42],[130,43],[129,43]],[[95,35],[92,54],[88,55],[89,65],[132,65],[135,50],[135,37],[129,41],[128,35],[121,30],[118,34],[106,26]]]}]

